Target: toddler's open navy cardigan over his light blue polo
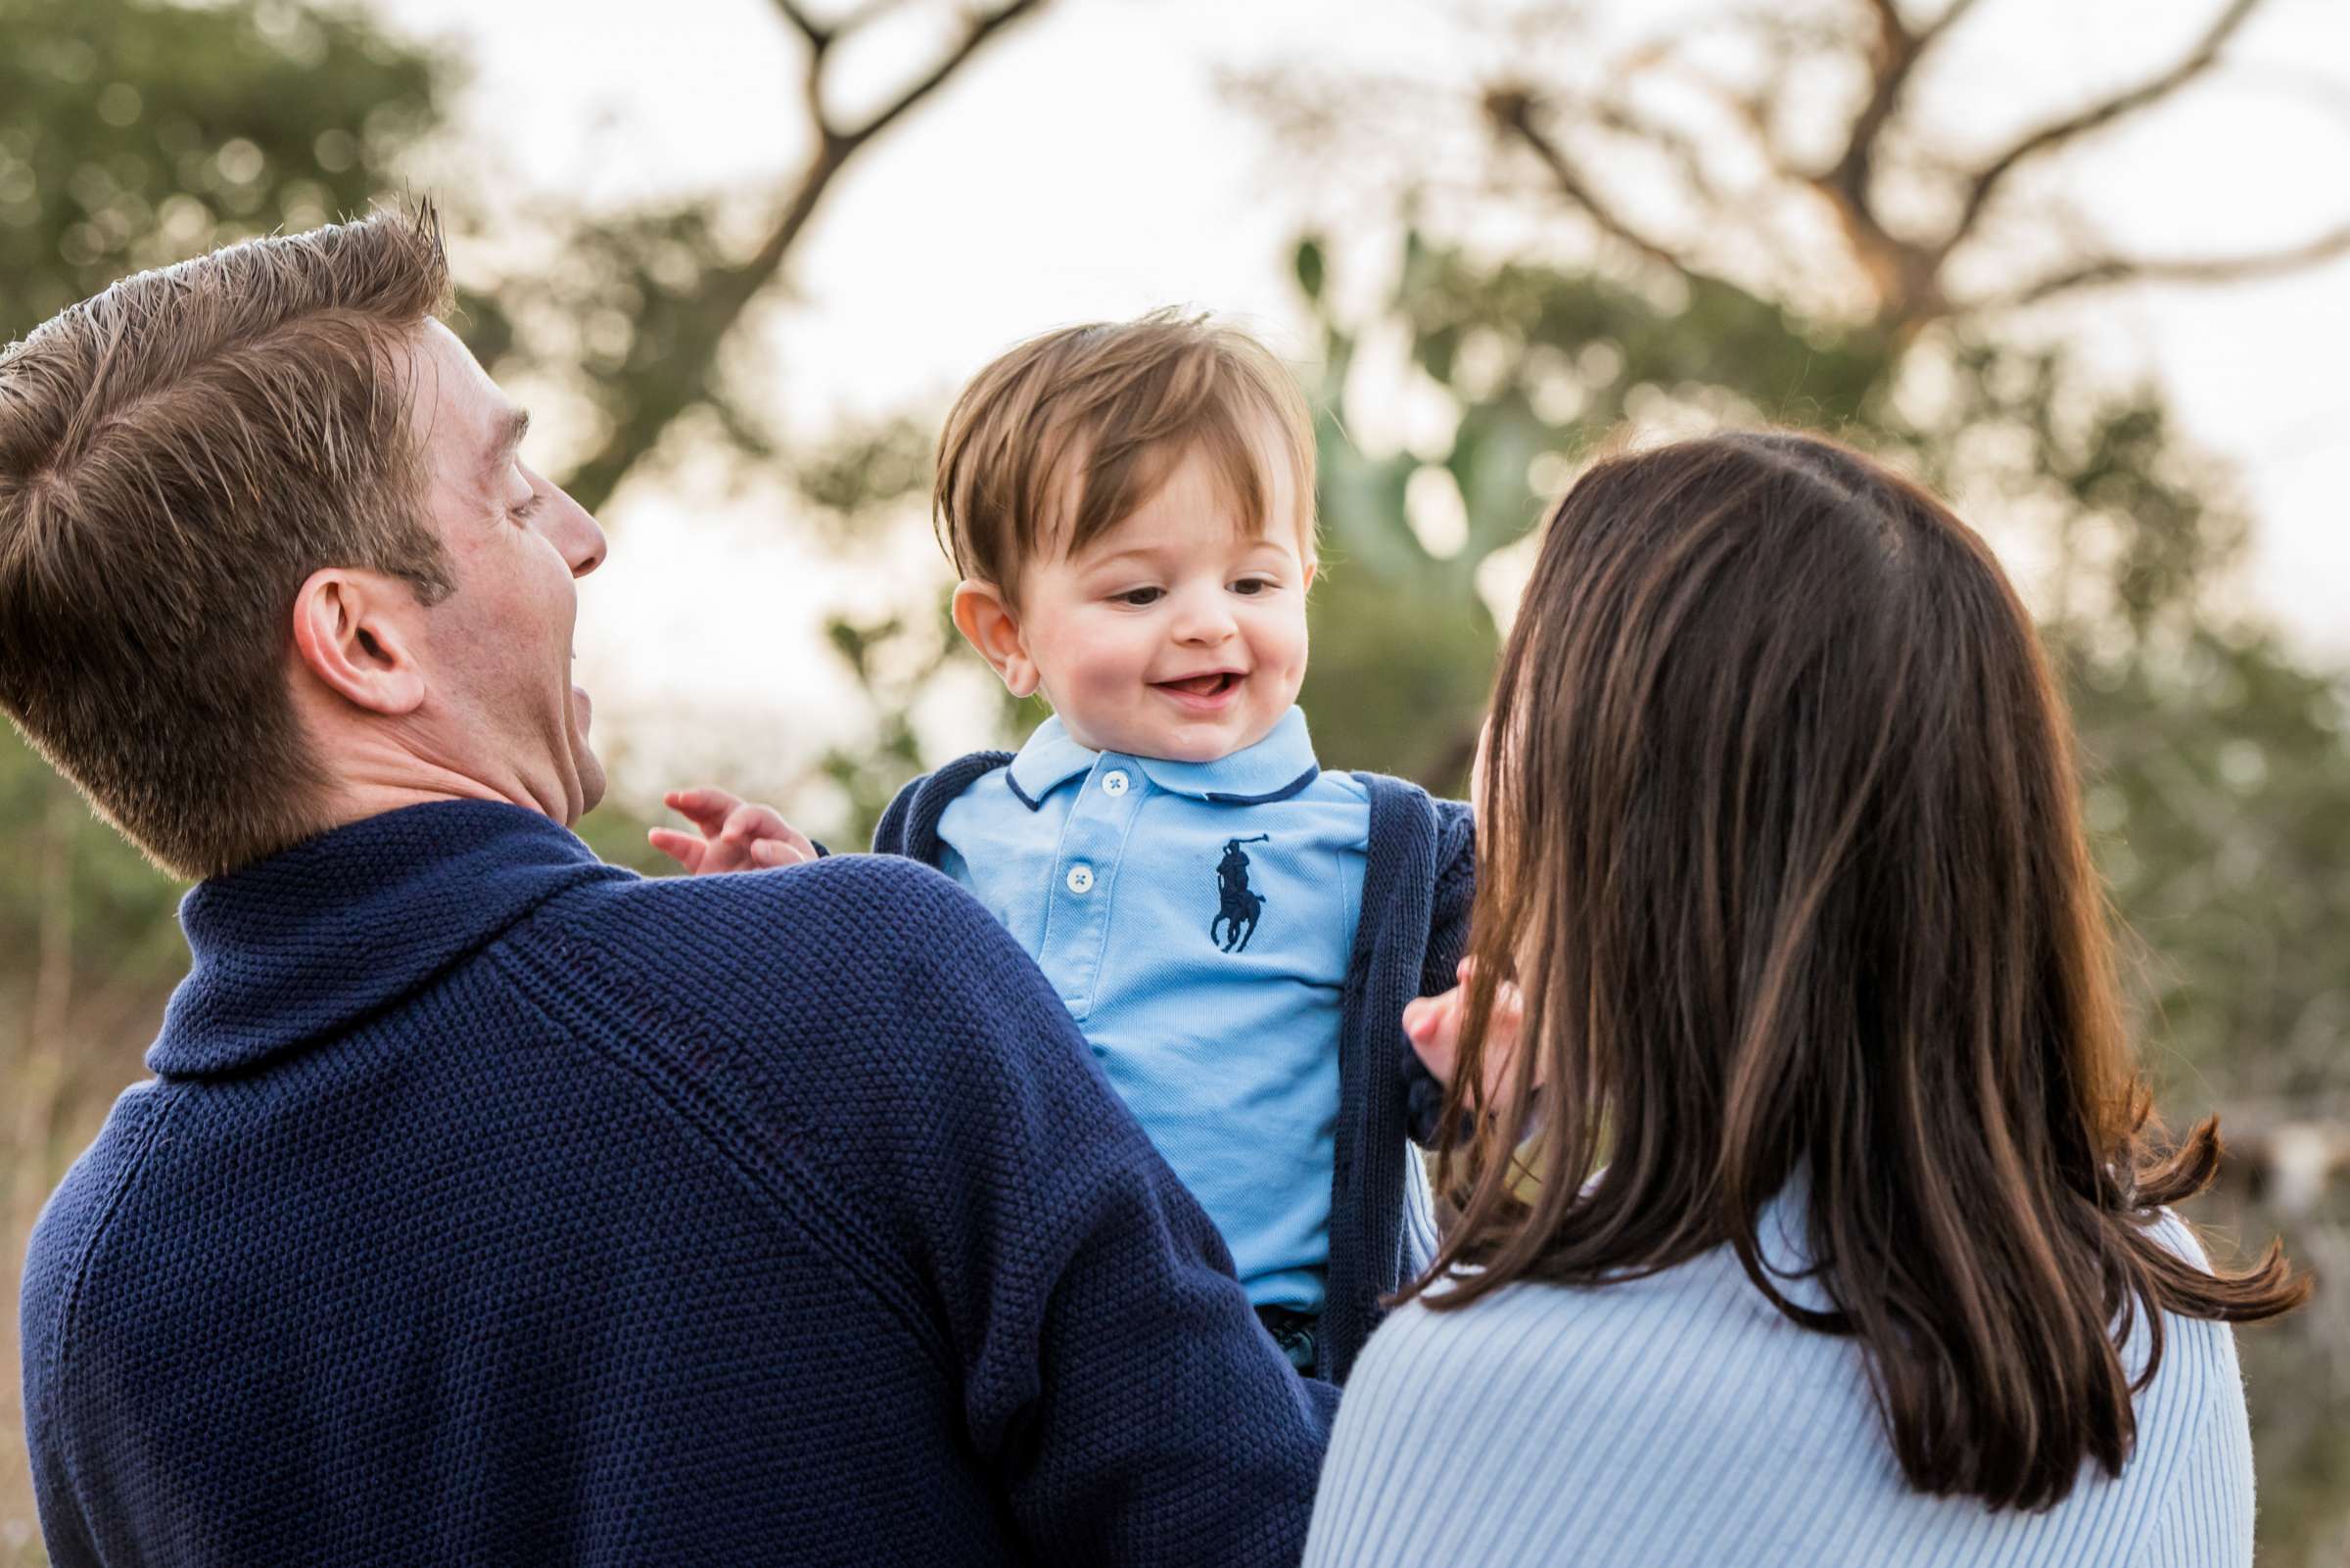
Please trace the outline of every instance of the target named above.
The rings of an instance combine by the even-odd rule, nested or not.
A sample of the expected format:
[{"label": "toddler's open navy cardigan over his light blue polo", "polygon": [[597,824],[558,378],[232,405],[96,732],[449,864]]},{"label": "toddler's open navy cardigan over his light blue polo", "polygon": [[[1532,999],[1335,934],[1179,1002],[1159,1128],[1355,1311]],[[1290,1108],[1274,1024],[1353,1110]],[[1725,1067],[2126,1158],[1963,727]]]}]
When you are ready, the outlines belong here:
[{"label": "toddler's open navy cardigan over his light blue polo", "polygon": [[[1010,751],[975,751],[898,791],[874,850],[935,866],[938,819]],[[1476,843],[1469,807],[1417,784],[1354,775],[1370,791],[1363,915],[1347,965],[1340,1021],[1337,1150],[1330,1171],[1330,1279],[1321,1376],[1344,1383],[1379,1324],[1379,1298],[1434,1256],[1431,1216],[1415,1202],[1417,1157],[1405,1138],[1436,1131],[1443,1087],[1403,1035],[1403,1005],[1455,984],[1469,951]]]}]

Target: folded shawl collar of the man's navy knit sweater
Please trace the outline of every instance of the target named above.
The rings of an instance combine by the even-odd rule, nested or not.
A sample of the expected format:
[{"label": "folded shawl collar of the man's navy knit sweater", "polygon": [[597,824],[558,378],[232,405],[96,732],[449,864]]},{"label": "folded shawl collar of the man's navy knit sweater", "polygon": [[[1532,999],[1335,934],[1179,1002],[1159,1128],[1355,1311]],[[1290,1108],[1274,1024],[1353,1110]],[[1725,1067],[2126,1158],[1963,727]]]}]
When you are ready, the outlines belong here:
[{"label": "folded shawl collar of the man's navy knit sweater", "polygon": [[331,1040],[557,892],[627,876],[538,812],[435,800],[197,883],[179,906],[195,962],[148,1070],[237,1073]]}]

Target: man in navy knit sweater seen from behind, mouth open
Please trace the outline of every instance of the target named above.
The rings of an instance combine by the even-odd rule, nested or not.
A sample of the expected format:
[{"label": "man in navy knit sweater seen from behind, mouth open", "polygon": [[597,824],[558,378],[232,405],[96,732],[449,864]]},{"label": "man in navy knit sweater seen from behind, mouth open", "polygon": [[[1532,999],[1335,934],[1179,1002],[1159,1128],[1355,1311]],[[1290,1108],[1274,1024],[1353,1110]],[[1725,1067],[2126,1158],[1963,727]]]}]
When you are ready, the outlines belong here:
[{"label": "man in navy knit sweater seen from behind, mouth open", "polygon": [[996,922],[566,831],[604,535],[444,293],[376,216],[0,357],[0,707],[204,878],[26,1263],[52,1559],[1295,1559],[1328,1401]]}]

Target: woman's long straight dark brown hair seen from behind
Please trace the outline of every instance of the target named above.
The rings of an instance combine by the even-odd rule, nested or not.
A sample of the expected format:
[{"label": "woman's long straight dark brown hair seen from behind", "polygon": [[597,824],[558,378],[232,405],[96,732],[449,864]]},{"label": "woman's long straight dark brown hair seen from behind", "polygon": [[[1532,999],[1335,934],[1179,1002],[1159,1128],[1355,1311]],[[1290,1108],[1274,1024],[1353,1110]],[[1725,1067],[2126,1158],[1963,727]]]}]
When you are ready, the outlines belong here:
[{"label": "woman's long straight dark brown hair seen from behind", "polygon": [[[2275,1244],[2228,1275],[2148,1230],[2218,1129],[2157,1145],[2063,704],[1918,486],[1793,434],[1593,467],[1502,657],[1478,822],[1429,1307],[1730,1244],[1793,1322],[1861,1340],[1913,1486],[2042,1507],[2084,1458],[2120,1472],[2162,1312],[2308,1296]],[[1523,1045],[1488,1094],[1504,979]],[[1502,1106],[1537,1082],[1520,1143]],[[1755,1244],[1798,1167],[1826,1312]]]}]

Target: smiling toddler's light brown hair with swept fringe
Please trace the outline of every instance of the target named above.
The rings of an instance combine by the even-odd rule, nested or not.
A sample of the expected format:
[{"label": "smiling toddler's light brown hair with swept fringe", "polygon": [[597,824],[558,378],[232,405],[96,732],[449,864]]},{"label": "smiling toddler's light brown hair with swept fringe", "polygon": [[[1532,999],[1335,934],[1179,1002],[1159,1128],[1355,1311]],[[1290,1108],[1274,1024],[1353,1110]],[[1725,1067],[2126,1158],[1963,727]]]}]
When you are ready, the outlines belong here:
[{"label": "smiling toddler's light brown hair with swept fringe", "polygon": [[[1264,451],[1271,427],[1285,448]],[[1069,554],[1149,502],[1203,453],[1255,533],[1271,526],[1267,462],[1297,484],[1314,549],[1314,415],[1288,369],[1248,333],[1156,310],[1065,326],[980,371],[947,415],[931,516],[964,577],[1020,596],[1029,559]]]}]

